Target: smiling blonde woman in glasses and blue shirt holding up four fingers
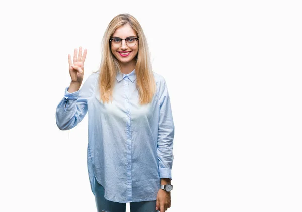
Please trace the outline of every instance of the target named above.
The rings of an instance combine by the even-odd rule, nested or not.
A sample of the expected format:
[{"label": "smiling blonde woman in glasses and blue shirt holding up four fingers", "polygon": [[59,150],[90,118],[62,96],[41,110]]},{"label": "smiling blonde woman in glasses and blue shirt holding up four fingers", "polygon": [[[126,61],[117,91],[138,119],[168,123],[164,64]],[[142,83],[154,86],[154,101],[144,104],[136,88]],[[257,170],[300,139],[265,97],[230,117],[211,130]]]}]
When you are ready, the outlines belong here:
[{"label": "smiling blonde woman in glasses and blue shirt holding up four fingers", "polygon": [[[56,109],[60,130],[89,111],[87,164],[98,211],[166,211],[171,206],[174,124],[165,79],[152,71],[138,21],[119,14],[102,42],[100,69],[85,81],[85,49],[68,55],[70,86]],[[78,56],[77,56],[78,54]]]}]

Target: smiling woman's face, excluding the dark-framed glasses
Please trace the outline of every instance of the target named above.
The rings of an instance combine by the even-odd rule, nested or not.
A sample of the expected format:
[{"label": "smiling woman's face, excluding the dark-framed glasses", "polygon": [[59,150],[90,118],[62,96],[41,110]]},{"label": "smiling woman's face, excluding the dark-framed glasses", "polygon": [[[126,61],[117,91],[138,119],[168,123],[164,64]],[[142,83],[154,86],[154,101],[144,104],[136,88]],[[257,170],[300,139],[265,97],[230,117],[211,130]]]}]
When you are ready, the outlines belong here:
[{"label": "smiling woman's face, excluding the dark-framed glasses", "polygon": [[[121,39],[126,39],[128,37],[137,38],[135,31],[128,24],[117,28],[111,36],[111,38]],[[138,41],[139,40],[136,41],[135,46],[130,47],[126,44],[125,40],[122,40],[122,43],[119,47],[113,46],[113,42],[111,42],[111,52],[120,61],[120,63],[135,63],[134,58],[138,52]]]}]

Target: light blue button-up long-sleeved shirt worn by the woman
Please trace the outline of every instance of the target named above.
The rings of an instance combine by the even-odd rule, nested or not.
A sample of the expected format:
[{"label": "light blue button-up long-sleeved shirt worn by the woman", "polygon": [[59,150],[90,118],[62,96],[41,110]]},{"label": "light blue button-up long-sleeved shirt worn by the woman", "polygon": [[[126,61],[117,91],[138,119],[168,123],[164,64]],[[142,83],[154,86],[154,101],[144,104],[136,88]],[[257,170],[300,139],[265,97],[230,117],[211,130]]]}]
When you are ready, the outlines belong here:
[{"label": "light blue button-up long-sleeved shirt worn by the woman", "polygon": [[77,126],[88,113],[87,165],[105,188],[105,198],[126,203],[156,200],[161,178],[170,178],[174,124],[165,79],[153,72],[156,93],[152,102],[139,104],[135,69],[118,73],[112,103],[100,100],[99,71],[82,88],[65,95],[56,108],[60,130]]}]

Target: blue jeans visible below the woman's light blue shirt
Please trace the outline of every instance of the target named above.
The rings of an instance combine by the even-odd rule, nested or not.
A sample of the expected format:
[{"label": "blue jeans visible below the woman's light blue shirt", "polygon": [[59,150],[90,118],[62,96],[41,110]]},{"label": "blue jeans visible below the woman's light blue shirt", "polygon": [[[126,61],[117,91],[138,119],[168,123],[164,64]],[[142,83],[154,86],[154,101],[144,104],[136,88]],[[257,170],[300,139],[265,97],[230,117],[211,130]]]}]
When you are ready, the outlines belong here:
[{"label": "blue jeans visible below the woman's light blue shirt", "polygon": [[[98,183],[95,178],[95,199],[98,212],[125,212],[126,203],[119,203],[109,201],[104,197],[104,187]],[[130,202],[131,212],[157,212],[155,209],[156,200],[154,201],[141,201],[141,202]]]}]

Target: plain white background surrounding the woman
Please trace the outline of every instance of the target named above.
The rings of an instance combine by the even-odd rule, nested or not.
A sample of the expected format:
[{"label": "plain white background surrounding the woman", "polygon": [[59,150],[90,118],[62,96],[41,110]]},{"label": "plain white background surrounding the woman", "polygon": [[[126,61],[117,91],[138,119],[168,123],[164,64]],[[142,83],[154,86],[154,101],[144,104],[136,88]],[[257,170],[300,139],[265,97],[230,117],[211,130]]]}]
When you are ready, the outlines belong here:
[{"label": "plain white background surrounding the woman", "polygon": [[60,131],[55,109],[70,83],[68,54],[88,49],[86,80],[107,25],[125,12],[171,97],[167,211],[302,211],[298,2],[2,3],[0,211],[96,211],[88,116]]}]

